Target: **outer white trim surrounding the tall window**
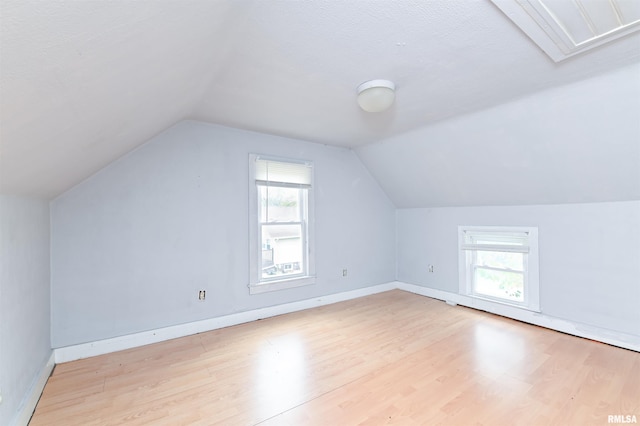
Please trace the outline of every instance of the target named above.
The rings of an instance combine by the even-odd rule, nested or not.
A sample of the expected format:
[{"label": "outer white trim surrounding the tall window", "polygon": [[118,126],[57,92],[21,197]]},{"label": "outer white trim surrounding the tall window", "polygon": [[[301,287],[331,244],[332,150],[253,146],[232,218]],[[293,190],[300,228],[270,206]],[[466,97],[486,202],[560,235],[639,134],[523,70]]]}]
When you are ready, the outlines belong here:
[{"label": "outer white trim surrounding the tall window", "polygon": [[260,294],[270,291],[285,290],[315,284],[315,216],[314,216],[314,174],[311,174],[311,188],[307,191],[307,274],[293,278],[275,279],[269,281],[260,280],[259,251],[260,234],[258,224],[258,190],[256,186],[255,162],[258,158],[281,161],[288,163],[309,163],[309,161],[284,157],[274,157],[261,154],[249,154],[249,294]]}]

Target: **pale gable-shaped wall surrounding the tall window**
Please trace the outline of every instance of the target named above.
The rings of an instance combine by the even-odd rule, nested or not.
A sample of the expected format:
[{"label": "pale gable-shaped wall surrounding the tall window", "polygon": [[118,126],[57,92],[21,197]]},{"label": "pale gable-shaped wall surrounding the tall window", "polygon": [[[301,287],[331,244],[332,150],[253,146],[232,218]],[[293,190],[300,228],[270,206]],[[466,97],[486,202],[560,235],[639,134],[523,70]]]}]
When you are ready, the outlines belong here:
[{"label": "pale gable-shaped wall surrounding the tall window", "polygon": [[[249,295],[251,152],[314,162],[314,285]],[[193,121],[54,199],[51,223],[53,347],[395,279],[395,208],[353,151]]]}]

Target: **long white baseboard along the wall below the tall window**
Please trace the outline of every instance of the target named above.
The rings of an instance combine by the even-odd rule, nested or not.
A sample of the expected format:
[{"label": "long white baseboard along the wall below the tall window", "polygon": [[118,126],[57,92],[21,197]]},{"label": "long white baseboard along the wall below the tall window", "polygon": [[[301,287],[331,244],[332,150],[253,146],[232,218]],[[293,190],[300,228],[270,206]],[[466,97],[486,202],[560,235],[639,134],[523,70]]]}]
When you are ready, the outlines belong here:
[{"label": "long white baseboard along the wall below the tall window", "polygon": [[357,290],[330,294],[327,296],[320,296],[313,299],[285,303],[283,305],[254,309],[252,311],[239,312],[237,314],[225,315],[202,321],[194,321],[187,324],[174,325],[171,327],[164,327],[155,330],[143,331],[140,333],[128,334],[126,336],[113,337],[110,339],[98,340],[95,342],[66,346],[54,349],[55,362],[59,364],[62,362],[75,361],[77,359],[88,358],[96,355],[103,355],[106,353],[121,351],[124,349],[135,348],[138,346],[149,345],[151,343],[158,343],[178,337],[189,336],[192,334],[203,333],[219,328],[230,327],[232,325],[256,321],[263,318],[288,314],[291,312],[315,308],[323,305],[330,305],[332,303],[342,302],[345,300],[357,299],[358,297],[381,293],[383,291],[394,290],[396,288],[398,288],[396,282],[389,282],[373,287],[365,287]]}]

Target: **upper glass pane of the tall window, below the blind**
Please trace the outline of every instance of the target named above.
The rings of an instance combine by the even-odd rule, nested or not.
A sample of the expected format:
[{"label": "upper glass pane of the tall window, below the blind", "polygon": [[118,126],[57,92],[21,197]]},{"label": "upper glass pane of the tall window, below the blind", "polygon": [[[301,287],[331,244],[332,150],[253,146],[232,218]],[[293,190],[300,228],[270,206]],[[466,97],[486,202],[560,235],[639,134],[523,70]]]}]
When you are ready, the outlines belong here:
[{"label": "upper glass pane of the tall window, below the blind", "polygon": [[300,222],[299,188],[258,186],[261,222]]}]

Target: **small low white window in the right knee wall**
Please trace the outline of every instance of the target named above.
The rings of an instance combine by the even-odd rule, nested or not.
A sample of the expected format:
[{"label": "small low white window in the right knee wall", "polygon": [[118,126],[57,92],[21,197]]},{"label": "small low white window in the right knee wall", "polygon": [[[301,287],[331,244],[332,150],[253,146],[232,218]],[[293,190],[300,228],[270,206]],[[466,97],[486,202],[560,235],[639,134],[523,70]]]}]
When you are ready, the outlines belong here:
[{"label": "small low white window in the right knee wall", "polygon": [[537,228],[461,226],[458,234],[461,294],[540,310]]}]

